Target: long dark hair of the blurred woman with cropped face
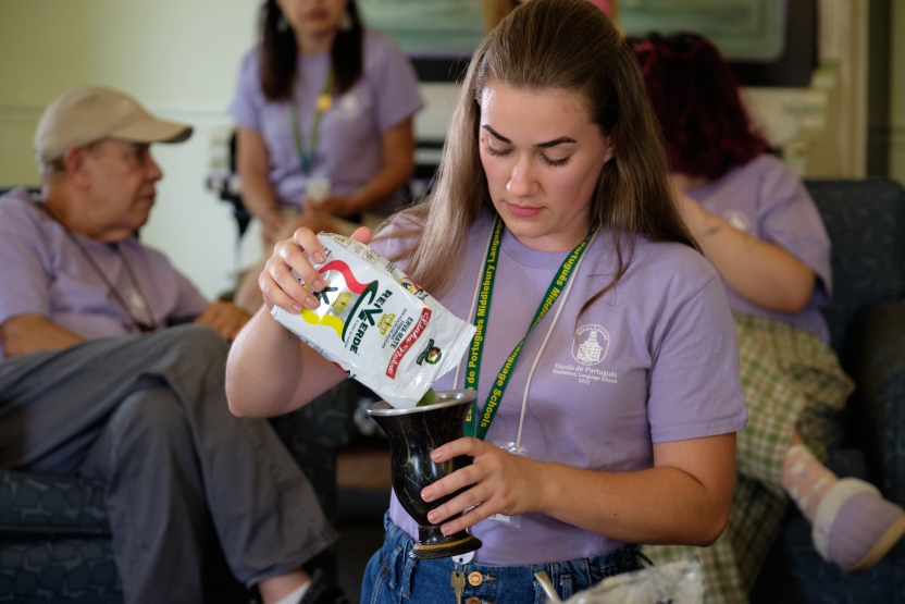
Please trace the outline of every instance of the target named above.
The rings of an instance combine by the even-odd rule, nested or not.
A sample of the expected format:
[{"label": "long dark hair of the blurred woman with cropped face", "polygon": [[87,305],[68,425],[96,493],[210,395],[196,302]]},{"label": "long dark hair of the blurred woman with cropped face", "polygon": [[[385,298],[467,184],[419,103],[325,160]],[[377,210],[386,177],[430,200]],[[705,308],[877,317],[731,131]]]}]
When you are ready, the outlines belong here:
[{"label": "long dark hair of the blurred woman with cropped face", "polygon": [[[361,47],[364,28],[355,0],[349,0],[346,11],[351,20],[351,27],[336,32],[330,51],[336,70],[335,88],[339,95],[348,91],[358,82],[362,70]],[[268,100],[289,100],[293,98],[296,78],[298,47],[293,28],[286,23],[275,0],[266,0],[261,5],[260,30],[261,89]]]}]

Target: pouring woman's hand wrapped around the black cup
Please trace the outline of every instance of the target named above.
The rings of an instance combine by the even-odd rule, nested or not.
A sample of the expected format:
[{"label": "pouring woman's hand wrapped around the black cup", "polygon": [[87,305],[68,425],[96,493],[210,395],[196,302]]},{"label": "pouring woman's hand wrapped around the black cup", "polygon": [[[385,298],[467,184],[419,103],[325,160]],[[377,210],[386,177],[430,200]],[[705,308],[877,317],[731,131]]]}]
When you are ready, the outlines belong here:
[{"label": "pouring woman's hand wrapped around the black cup", "polygon": [[[541,509],[543,464],[469,437],[443,445],[431,454],[431,459],[442,464],[459,455],[472,457],[472,464],[421,491],[421,498],[432,502],[471,486],[427,515],[434,525],[454,518],[442,527],[444,534],[476,525],[494,514],[518,516]],[[471,509],[459,516],[468,508]]]}]

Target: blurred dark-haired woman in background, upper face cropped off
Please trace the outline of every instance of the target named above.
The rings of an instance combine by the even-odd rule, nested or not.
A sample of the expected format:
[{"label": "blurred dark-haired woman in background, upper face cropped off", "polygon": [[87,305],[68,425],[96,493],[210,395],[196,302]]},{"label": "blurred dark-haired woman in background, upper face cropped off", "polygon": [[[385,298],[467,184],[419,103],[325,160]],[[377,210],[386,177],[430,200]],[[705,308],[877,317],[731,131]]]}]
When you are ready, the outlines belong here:
[{"label": "blurred dark-haired woman in background, upper face cropped off", "polygon": [[[261,45],[243,61],[230,114],[237,169],[266,250],[299,226],[351,234],[405,204],[412,116],[422,107],[409,60],[362,26],[355,0],[266,0]],[[258,269],[236,304],[261,306]]]}]

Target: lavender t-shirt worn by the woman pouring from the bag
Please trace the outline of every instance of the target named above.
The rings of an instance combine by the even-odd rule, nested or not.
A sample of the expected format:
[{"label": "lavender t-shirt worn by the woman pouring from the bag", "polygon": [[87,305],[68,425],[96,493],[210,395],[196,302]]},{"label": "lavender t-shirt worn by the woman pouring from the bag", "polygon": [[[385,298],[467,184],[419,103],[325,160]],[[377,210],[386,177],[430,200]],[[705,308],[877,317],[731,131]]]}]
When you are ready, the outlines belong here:
[{"label": "lavender t-shirt worn by the woman pouring from the bag", "polygon": [[[456,285],[441,299],[462,319],[471,319],[491,225],[483,217],[472,229]],[[639,241],[619,284],[579,316],[611,279],[610,244],[609,236],[598,235],[572,275],[571,293],[528,337],[486,441],[516,441],[528,374],[562,304],[528,391],[522,445],[530,458],[607,472],[637,471],[653,466],[653,443],[744,428],[735,331],[714,268],[680,244]],[[392,255],[398,245],[389,239],[374,247]],[[480,406],[566,256],[530,249],[505,232],[481,362]],[[456,384],[454,375],[455,370],[434,387],[463,387],[464,370]],[[410,535],[418,534],[395,495],[389,514]],[[543,514],[524,515],[518,529],[484,520],[472,532],[484,543],[475,559],[488,564],[545,564],[623,545]]]}]

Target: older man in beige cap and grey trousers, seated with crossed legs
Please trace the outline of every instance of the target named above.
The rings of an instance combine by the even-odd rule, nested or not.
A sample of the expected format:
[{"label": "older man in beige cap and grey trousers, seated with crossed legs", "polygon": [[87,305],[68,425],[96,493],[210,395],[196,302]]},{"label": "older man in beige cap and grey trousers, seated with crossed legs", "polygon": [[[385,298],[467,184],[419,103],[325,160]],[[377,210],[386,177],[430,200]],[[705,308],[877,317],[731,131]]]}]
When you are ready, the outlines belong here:
[{"label": "older man in beige cap and grey trousers, seated with crossed legs", "polygon": [[128,603],[202,601],[209,516],[265,603],[339,602],[302,570],[335,540],[310,484],[265,421],[227,408],[248,316],[134,237],[162,177],[150,144],[190,135],[106,88],[41,118],[40,198],[0,197],[0,467],[107,482]]}]

